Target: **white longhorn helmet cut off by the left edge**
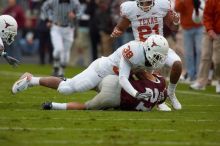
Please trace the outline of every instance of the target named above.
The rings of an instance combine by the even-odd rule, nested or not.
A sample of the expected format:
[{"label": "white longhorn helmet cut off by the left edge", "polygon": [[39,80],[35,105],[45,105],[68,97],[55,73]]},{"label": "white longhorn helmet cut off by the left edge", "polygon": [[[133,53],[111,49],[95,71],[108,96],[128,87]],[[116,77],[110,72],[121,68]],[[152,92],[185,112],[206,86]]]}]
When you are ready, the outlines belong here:
[{"label": "white longhorn helmet cut off by the left edge", "polygon": [[8,45],[14,41],[14,37],[17,35],[17,28],[18,24],[12,16],[0,16],[0,37]]}]

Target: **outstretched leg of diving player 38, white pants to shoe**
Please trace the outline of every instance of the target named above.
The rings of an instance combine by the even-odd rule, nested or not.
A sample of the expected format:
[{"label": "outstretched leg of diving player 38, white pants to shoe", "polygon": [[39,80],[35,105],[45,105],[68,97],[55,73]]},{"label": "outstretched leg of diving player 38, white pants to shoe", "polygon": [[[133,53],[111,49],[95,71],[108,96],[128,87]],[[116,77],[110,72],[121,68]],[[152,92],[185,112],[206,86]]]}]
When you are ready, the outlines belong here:
[{"label": "outstretched leg of diving player 38, white pants to shoe", "polygon": [[62,80],[58,77],[33,77],[32,74],[25,73],[18,81],[14,83],[12,92],[15,94],[35,85],[57,89],[63,94],[87,91],[96,87],[102,80],[102,76],[100,76],[96,70],[99,64],[98,61],[99,60],[94,61],[82,73],[67,80]]}]

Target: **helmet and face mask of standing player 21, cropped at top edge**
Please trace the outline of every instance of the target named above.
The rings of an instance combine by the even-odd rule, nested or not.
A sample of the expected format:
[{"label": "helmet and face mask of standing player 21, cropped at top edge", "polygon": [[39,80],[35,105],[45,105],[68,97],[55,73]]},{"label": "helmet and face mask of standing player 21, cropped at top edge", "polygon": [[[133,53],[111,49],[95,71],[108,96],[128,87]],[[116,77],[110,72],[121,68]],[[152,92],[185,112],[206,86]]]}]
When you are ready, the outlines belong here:
[{"label": "helmet and face mask of standing player 21, cropped at top edge", "polygon": [[136,0],[137,6],[144,12],[150,11],[154,6],[154,0]]}]

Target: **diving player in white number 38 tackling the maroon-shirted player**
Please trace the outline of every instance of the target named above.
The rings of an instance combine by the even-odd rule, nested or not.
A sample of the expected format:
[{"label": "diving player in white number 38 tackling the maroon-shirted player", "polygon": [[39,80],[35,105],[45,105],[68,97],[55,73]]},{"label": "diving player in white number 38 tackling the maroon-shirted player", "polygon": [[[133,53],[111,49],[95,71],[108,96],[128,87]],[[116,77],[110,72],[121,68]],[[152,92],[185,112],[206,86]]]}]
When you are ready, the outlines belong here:
[{"label": "diving player in white number 38 tackling the maroon-shirted player", "polygon": [[161,68],[167,58],[168,49],[168,42],[163,36],[151,35],[145,42],[131,41],[110,56],[95,60],[86,70],[71,79],[33,77],[25,73],[14,83],[12,92],[15,94],[34,85],[57,89],[63,94],[83,92],[95,88],[105,76],[118,74],[122,88],[132,97],[143,99],[147,95],[139,93],[128,80],[130,71],[137,68],[150,71]]}]

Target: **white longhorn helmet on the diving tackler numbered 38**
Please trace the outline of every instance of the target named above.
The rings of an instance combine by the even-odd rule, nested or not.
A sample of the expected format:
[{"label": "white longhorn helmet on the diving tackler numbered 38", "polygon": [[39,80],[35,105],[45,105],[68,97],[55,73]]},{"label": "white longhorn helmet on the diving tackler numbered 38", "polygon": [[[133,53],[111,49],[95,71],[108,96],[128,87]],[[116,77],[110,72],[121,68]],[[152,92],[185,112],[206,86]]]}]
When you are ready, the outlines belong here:
[{"label": "white longhorn helmet on the diving tackler numbered 38", "polygon": [[169,45],[161,35],[151,35],[144,42],[145,65],[152,69],[161,68],[165,64]]}]

